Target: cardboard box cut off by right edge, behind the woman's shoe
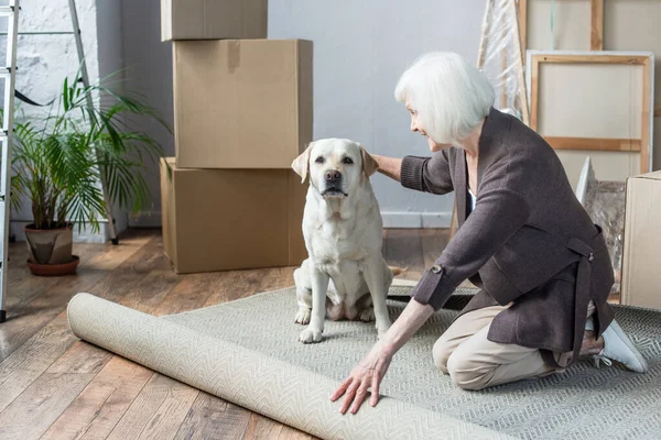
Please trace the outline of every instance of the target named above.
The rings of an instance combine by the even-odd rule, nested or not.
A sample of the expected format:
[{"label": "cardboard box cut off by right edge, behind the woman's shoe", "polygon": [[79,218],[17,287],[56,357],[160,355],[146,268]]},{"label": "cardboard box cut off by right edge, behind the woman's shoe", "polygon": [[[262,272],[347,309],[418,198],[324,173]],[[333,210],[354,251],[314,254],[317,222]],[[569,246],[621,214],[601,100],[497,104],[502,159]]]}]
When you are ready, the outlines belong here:
[{"label": "cardboard box cut off by right edge, behind the woman's shoe", "polygon": [[661,309],[661,172],[627,179],[621,304]]}]

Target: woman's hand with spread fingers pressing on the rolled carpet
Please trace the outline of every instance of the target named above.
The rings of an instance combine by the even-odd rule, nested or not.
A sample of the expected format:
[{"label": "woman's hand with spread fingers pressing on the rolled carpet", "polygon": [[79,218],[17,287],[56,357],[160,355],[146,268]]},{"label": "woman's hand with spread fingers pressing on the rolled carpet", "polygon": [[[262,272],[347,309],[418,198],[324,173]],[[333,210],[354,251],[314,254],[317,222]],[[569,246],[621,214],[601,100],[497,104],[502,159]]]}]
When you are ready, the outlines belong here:
[{"label": "woman's hand with spread fingers pressing on the rolled carpet", "polygon": [[392,361],[392,354],[384,350],[380,343],[377,343],[369,354],[351,370],[349,377],[330,396],[330,400],[335,402],[346,394],[339,413],[345,414],[349,406],[351,406],[350,413],[356,414],[360,405],[362,405],[362,400],[365,400],[369,388],[371,388],[369,404],[371,406],[377,405],[379,386],[390,366],[390,361]]}]

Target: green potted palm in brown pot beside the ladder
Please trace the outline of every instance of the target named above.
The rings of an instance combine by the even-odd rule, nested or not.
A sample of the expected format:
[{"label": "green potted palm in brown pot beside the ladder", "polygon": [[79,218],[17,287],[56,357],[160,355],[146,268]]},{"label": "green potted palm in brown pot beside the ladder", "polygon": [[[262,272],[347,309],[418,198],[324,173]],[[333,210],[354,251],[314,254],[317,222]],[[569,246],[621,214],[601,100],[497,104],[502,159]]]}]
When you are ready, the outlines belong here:
[{"label": "green potted palm in brown pot beside the ladder", "polygon": [[[93,98],[91,100],[89,98]],[[98,101],[100,106],[90,106]],[[29,200],[32,222],[25,227],[28,265],[36,275],[75,272],[73,231],[99,231],[107,202],[132,212],[150,200],[142,175],[145,162],[158,161],[162,147],[132,131],[129,118],[156,113],[139,98],[101,82],[84,86],[79,75],[64,80],[62,92],[41,117],[17,118],[12,154],[11,202]],[[101,178],[107,183],[104,197]],[[108,200],[108,201],[106,201]]]}]

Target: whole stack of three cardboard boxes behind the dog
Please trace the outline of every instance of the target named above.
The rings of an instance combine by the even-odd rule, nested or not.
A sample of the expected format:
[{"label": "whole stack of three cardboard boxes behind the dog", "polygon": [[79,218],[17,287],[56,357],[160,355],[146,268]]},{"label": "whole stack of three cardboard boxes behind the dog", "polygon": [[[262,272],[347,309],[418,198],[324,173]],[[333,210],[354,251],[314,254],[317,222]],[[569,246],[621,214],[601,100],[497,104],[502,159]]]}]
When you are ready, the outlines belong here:
[{"label": "whole stack of three cardboard boxes behind the dog", "polygon": [[[176,157],[161,163],[177,273],[297,265],[312,141],[312,42],[267,40],[266,0],[162,0]],[[226,40],[232,38],[232,40]]]}]

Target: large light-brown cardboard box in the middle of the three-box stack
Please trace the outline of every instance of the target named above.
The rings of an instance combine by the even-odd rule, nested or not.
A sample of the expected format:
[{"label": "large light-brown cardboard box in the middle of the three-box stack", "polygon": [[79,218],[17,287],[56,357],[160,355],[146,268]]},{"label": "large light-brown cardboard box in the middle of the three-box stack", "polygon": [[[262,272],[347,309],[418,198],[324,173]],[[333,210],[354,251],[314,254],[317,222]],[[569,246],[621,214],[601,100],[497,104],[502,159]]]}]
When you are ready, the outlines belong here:
[{"label": "large light-brown cardboard box in the middle of the three-box stack", "polygon": [[181,168],[289,168],[312,141],[312,42],[174,42]]}]

